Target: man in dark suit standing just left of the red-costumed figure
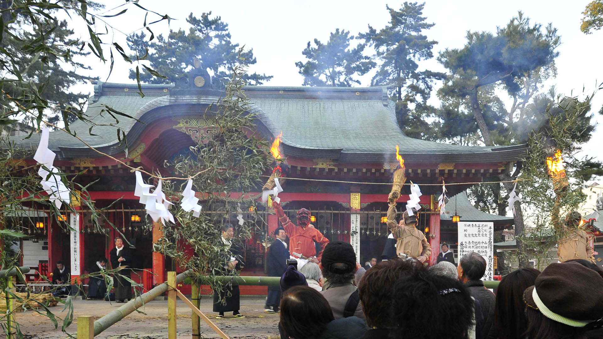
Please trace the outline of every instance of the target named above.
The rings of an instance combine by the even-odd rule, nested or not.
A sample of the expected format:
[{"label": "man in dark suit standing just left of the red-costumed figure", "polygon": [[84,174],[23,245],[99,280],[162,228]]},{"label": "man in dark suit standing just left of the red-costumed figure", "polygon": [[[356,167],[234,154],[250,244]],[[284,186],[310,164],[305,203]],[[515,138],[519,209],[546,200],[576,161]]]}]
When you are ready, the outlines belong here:
[{"label": "man in dark suit standing just left of the red-costumed figure", "polygon": [[[268,276],[280,277],[287,269],[286,260],[289,259],[289,250],[287,250],[287,232],[283,227],[274,230],[276,240],[268,247],[268,257],[266,263],[268,267]],[[266,298],[266,306],[264,312],[274,313],[279,311],[280,305],[280,287],[268,286],[268,297]]]}]

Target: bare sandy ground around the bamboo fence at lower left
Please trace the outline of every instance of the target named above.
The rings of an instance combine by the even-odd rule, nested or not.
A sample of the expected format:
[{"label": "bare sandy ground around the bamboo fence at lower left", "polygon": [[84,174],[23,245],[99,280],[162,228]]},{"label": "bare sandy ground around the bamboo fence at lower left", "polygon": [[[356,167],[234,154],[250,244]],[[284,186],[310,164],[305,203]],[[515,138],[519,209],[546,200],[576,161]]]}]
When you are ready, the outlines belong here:
[{"label": "bare sandy ground around the bamboo fence at lower left", "polygon": [[[101,300],[74,300],[74,323],[67,329],[70,334],[77,331],[77,318],[80,315],[93,315],[96,319],[124,305],[122,303],[109,303]],[[191,310],[182,300],[177,302],[177,335],[178,338],[192,338],[191,333]],[[50,308],[58,317],[62,306]],[[203,296],[201,299],[201,312],[210,316],[216,315],[212,312],[212,299]],[[166,300],[154,300],[148,303],[140,311],[145,314],[133,312],[115,325],[106,329],[95,338],[106,339],[159,339],[168,337],[168,302]],[[224,319],[210,317],[222,331],[230,338],[267,338],[268,335],[278,335],[278,314],[264,313],[264,297],[241,297],[241,313],[246,318],[233,318],[232,313],[226,314]],[[17,314],[17,322],[21,325],[21,331],[26,339],[58,339],[66,338],[61,332],[59,322],[58,329],[54,329],[52,322],[45,315],[33,311]],[[201,339],[219,338],[212,329],[201,320]]]}]

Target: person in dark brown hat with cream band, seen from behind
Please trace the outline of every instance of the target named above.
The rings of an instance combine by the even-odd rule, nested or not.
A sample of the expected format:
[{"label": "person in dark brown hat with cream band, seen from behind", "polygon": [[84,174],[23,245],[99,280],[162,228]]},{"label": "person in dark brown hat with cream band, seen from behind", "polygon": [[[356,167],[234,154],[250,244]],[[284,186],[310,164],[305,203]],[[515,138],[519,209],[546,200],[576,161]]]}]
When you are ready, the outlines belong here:
[{"label": "person in dark brown hat with cream band, seen from behind", "polygon": [[523,301],[529,339],[587,338],[603,325],[603,278],[577,262],[548,265]]}]

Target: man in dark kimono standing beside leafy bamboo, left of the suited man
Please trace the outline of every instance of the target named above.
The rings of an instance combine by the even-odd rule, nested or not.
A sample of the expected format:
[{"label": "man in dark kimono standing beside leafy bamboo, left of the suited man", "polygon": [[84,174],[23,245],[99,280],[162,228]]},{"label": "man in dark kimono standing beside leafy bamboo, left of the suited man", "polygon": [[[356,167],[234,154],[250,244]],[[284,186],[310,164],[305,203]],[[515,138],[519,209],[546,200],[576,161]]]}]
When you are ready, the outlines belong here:
[{"label": "man in dark kimono standing beside leafy bamboo, left of the suited man", "polygon": [[[214,270],[216,275],[230,275],[233,270],[240,271],[244,266],[243,263],[243,252],[241,247],[235,242],[232,241],[233,236],[235,236],[235,231],[233,229],[232,224],[223,224],[221,227],[222,238],[221,245],[226,246],[229,249],[230,257],[229,259],[219,267]],[[232,311],[232,315],[235,318],[244,318],[245,315],[242,315],[239,312],[241,309],[240,298],[241,293],[239,292],[239,285],[224,285],[221,290],[213,290],[213,311],[218,312],[216,315],[216,319],[224,318],[224,312]]]}]

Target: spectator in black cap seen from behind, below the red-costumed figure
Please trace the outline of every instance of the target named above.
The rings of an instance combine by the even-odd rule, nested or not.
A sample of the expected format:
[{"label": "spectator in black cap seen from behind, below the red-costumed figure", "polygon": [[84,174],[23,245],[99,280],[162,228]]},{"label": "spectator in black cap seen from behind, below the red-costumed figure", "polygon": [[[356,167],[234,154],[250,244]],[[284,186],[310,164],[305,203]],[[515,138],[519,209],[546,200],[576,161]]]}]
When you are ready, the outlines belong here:
[{"label": "spectator in black cap seen from behind, below the red-costumed figure", "polygon": [[357,270],[352,245],[339,240],[329,242],[319,266],[326,279],[321,294],[329,302],[335,319],[352,315],[364,319],[358,290],[352,282]]}]

